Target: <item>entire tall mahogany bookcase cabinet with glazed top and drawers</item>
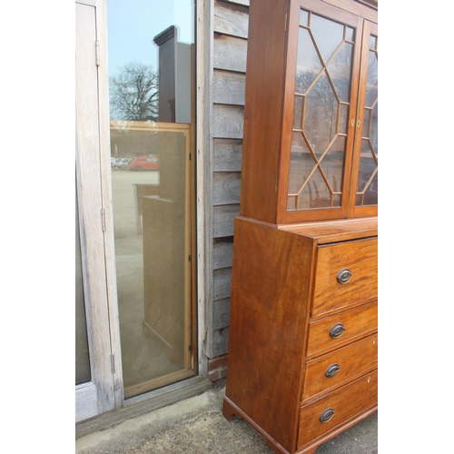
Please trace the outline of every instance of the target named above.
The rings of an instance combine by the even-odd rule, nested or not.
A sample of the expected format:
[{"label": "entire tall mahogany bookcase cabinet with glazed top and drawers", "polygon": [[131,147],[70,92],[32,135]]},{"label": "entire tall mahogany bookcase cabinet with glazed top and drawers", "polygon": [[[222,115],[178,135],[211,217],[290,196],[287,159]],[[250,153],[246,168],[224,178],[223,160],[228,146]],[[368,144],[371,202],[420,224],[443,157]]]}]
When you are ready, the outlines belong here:
[{"label": "entire tall mahogany bookcase cabinet with glazed top and drawers", "polygon": [[250,5],[223,414],[282,454],[378,408],[376,5]]}]

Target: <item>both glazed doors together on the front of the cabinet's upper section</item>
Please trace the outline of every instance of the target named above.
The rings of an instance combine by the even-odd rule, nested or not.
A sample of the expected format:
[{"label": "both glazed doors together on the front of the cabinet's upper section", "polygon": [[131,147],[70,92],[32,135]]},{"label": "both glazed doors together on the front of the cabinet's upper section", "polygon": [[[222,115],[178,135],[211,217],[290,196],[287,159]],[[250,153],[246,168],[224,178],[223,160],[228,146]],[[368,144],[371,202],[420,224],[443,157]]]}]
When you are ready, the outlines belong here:
[{"label": "both glazed doors together on the front of the cabinet's upper section", "polygon": [[372,23],[341,7],[318,0],[291,3],[281,222],[347,218],[356,206],[368,207],[356,215],[376,214],[369,208],[376,204],[377,187],[372,29]]}]

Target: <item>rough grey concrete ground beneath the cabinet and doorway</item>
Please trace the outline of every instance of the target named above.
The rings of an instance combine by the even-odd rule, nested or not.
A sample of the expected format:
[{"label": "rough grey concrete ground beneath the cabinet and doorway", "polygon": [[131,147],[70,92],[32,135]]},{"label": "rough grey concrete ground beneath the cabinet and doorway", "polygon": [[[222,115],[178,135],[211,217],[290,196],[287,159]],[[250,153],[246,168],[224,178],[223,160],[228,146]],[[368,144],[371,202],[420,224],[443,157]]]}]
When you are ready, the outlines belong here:
[{"label": "rough grey concrete ground beneath the cabinet and doorway", "polygon": [[[222,416],[225,380],[212,390],[75,441],[76,454],[274,454],[244,419]],[[377,454],[378,414],[321,445],[316,454]]]}]

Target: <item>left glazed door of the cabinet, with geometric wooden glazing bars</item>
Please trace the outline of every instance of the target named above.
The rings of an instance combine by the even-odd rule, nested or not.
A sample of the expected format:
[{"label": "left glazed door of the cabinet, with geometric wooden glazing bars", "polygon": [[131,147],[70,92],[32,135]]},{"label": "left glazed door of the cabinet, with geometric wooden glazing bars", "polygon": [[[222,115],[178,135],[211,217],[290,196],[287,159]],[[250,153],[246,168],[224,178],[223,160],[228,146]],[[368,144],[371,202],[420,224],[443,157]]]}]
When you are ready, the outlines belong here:
[{"label": "left glazed door of the cabinet, with geometric wooden glazing bars", "polygon": [[[361,20],[321,2],[299,2],[288,221],[347,215],[358,97]],[[290,110],[290,109],[289,109]],[[287,167],[287,162],[285,163]]]}]

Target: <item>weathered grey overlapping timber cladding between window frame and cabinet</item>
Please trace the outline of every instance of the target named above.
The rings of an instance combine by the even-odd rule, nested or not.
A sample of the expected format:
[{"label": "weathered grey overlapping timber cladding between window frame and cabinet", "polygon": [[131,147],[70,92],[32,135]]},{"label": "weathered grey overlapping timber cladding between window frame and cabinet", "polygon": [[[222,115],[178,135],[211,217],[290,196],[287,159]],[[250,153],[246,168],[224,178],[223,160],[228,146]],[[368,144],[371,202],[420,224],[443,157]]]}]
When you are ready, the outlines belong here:
[{"label": "weathered grey overlapping timber cladding between window frame and cabinet", "polygon": [[207,354],[227,353],[233,220],[240,212],[249,0],[214,0],[212,36],[212,292]]}]

